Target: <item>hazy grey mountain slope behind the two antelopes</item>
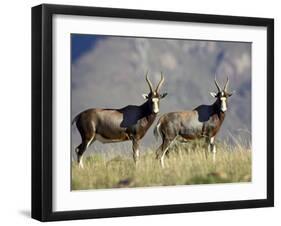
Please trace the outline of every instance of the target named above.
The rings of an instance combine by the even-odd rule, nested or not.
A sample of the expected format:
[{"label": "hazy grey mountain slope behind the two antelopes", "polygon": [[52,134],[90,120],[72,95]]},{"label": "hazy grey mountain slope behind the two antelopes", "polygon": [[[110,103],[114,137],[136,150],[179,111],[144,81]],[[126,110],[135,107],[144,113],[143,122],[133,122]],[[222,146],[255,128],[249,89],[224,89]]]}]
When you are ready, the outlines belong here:
[{"label": "hazy grey mountain slope behind the two antelopes", "polygon": [[[148,92],[144,78],[146,71],[155,85],[161,71],[165,76],[161,91],[168,92],[168,96],[160,103],[160,115],[212,104],[214,99],[209,92],[216,91],[214,74],[221,86],[228,75],[230,90],[234,89],[236,93],[229,99],[229,111],[219,137],[226,139],[229,133],[250,137],[249,43],[102,39],[72,65],[72,117],[87,108],[120,108],[143,103],[141,94]],[[75,130],[73,146],[80,142]],[[155,142],[152,129],[143,140],[145,145],[151,142]]]}]

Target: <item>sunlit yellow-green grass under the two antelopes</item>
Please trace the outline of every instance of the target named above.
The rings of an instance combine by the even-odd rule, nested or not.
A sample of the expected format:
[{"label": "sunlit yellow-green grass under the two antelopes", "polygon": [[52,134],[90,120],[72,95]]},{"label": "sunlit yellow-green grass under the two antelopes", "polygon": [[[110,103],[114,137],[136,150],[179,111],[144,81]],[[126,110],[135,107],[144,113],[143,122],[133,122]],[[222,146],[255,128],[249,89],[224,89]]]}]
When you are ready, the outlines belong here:
[{"label": "sunlit yellow-green grass under the two antelopes", "polygon": [[176,143],[164,169],[154,150],[142,151],[137,166],[132,156],[116,156],[112,150],[111,158],[95,153],[84,158],[83,169],[73,161],[72,190],[249,182],[251,161],[250,148],[239,144],[217,144],[213,162],[202,142]]}]

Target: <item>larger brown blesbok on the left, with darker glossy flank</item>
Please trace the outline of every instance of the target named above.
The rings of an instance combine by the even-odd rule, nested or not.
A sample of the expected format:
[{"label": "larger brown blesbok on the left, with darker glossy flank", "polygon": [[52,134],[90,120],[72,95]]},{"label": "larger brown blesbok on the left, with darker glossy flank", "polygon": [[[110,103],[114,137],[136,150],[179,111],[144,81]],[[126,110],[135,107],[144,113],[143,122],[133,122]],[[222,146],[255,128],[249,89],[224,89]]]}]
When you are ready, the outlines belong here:
[{"label": "larger brown blesbok on the left, with darker glossy flank", "polygon": [[167,93],[159,93],[160,87],[164,83],[162,73],[155,90],[148,78],[148,73],[146,73],[146,82],[149,86],[149,93],[143,94],[146,102],[142,105],[128,105],[120,109],[88,109],[73,119],[72,124],[76,122],[82,139],[81,144],[75,149],[79,167],[83,168],[82,155],[95,140],[102,143],[131,140],[133,158],[137,162],[139,142],[159,112],[160,99],[167,95]]}]

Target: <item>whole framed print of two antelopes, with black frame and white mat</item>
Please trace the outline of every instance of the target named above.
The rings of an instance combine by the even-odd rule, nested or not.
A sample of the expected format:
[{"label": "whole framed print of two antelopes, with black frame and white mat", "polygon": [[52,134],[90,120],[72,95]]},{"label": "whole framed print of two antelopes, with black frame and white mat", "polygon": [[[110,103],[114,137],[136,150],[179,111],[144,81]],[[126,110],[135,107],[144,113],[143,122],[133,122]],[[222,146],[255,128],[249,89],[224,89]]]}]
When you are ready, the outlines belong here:
[{"label": "whole framed print of two antelopes, with black frame and white mat", "polygon": [[274,21],[32,8],[32,217],[274,205]]}]

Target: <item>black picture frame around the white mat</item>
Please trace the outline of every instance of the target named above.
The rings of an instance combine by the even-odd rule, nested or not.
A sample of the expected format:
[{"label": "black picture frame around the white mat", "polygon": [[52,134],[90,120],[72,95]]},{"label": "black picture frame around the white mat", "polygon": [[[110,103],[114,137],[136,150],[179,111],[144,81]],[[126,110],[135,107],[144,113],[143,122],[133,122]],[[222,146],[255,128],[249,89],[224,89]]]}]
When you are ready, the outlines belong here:
[{"label": "black picture frame around the white mat", "polygon": [[[54,212],[52,210],[52,18],[55,14],[266,27],[267,198]],[[49,4],[32,8],[32,218],[40,221],[56,221],[270,206],[274,206],[273,19]]]}]

